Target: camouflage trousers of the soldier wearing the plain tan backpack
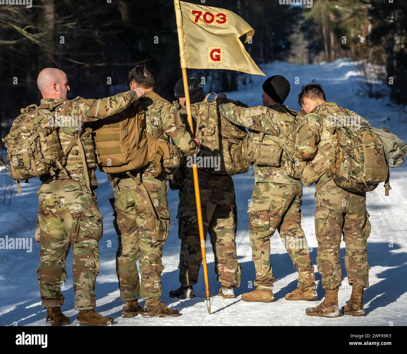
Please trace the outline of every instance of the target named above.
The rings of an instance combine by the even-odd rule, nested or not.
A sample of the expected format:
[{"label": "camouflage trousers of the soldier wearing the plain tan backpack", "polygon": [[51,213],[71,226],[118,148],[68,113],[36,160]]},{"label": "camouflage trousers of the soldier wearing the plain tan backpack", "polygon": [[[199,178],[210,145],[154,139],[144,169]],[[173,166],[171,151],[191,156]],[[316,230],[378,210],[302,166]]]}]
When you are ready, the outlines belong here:
[{"label": "camouflage trousers of the soldier wearing the plain tan backpack", "polygon": [[[142,183],[140,183],[142,181]],[[162,246],[170,213],[165,181],[148,173],[141,179],[121,178],[113,187],[114,226],[118,234],[116,272],[123,301],[160,299]],[[141,287],[136,262],[139,261]]]}]

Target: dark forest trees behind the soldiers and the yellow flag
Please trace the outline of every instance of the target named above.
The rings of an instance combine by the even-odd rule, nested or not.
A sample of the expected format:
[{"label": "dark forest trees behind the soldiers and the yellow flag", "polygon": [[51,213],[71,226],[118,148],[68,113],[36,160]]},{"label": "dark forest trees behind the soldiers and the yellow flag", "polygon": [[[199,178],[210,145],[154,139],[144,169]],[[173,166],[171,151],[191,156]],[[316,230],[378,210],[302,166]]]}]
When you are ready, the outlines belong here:
[{"label": "dark forest trees behind the soldiers and the yellow flag", "polygon": [[[120,91],[117,85],[127,85],[128,71],[146,63],[158,74],[156,91],[173,99],[181,70],[172,0],[32,4],[28,9],[0,5],[0,137],[20,108],[39,102],[37,75],[49,66],[67,73],[69,98],[99,98]],[[389,85],[392,99],[407,103],[405,0],[314,0],[312,8],[281,5],[279,0],[206,0],[204,5],[230,9],[255,29],[253,43],[245,47],[257,64],[337,58],[377,64],[384,69],[383,82],[394,79]],[[206,77],[206,91],[232,91],[250,80],[227,70],[195,74]]]}]

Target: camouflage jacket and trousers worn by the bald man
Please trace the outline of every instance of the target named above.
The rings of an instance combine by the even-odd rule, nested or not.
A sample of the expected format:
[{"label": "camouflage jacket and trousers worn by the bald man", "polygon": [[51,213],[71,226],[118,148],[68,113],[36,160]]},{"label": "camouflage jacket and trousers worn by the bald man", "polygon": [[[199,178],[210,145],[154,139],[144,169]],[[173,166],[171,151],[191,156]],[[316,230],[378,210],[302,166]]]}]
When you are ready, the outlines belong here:
[{"label": "camouflage jacket and trousers worn by the bald man", "polygon": [[[68,122],[60,129],[62,146],[78,131],[75,117],[81,117],[81,124],[85,124],[82,127],[85,135],[81,139],[83,148],[87,158],[95,161],[86,123],[118,113],[136,99],[136,94],[128,91],[101,100],[75,99],[60,104],[56,115]],[[41,100],[41,103],[55,101],[47,99]],[[78,145],[74,146],[68,157],[68,175],[61,172],[55,176],[44,176],[37,192],[39,212],[36,239],[41,248],[37,273],[43,308],[61,306],[63,303],[60,286],[66,280],[65,259],[71,244],[74,250],[75,309],[87,310],[96,306],[94,283],[99,270],[98,240],[102,237],[102,216],[96,195],[90,186],[85,187],[85,170],[78,148]],[[96,164],[88,167],[96,168]],[[92,173],[92,186],[96,188],[94,171],[89,172]]]}]

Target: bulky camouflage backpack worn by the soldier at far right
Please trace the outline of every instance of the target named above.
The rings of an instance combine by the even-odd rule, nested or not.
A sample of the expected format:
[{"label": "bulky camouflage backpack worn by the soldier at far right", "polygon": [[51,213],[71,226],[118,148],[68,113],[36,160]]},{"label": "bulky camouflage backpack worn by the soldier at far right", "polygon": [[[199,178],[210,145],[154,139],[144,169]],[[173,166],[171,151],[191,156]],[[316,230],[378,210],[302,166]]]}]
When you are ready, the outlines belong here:
[{"label": "bulky camouflage backpack worn by the soldier at far right", "polygon": [[[337,145],[330,173],[335,184],[345,190],[371,192],[381,182],[388,183],[389,167],[383,144],[379,135],[359,115],[346,108],[341,110],[344,116],[336,119]],[[348,122],[348,118],[353,122]]]}]

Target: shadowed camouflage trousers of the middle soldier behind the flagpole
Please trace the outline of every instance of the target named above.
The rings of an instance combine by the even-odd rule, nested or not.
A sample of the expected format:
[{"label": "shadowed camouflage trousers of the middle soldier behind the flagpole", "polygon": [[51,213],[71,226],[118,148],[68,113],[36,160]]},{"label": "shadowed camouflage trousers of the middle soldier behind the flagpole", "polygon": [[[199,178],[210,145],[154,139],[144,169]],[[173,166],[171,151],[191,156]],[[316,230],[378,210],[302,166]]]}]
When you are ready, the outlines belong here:
[{"label": "shadowed camouflage trousers of the middle soldier behind the flagpole", "polygon": [[[237,208],[234,184],[230,176],[214,175],[215,180],[223,181],[212,185],[199,179],[204,235],[209,233],[215,258],[217,280],[225,286],[239,287],[241,267],[236,254]],[[178,237],[181,239],[179,254],[179,282],[183,286],[198,282],[202,264],[199,241],[195,190],[192,185],[184,185],[179,191]]]}]

